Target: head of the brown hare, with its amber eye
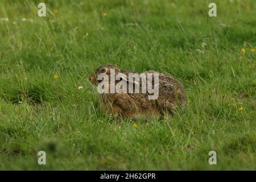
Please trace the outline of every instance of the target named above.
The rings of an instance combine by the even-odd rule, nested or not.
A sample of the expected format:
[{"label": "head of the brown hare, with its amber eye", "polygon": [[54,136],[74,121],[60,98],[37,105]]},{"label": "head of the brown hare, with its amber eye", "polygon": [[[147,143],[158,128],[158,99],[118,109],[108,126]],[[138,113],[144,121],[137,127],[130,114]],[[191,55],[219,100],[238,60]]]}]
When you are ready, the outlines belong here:
[{"label": "head of the brown hare, with its amber eye", "polygon": [[97,77],[98,75],[100,75],[101,73],[106,73],[109,78],[110,78],[110,70],[111,69],[114,69],[115,71],[115,75],[116,76],[120,70],[119,68],[117,67],[117,65],[112,65],[112,64],[109,64],[109,65],[101,65],[100,67],[98,67],[96,69],[96,71],[94,71],[90,76],[89,76],[89,80],[90,82],[92,82],[92,84],[94,85],[97,85],[101,82],[101,80],[97,80]]}]

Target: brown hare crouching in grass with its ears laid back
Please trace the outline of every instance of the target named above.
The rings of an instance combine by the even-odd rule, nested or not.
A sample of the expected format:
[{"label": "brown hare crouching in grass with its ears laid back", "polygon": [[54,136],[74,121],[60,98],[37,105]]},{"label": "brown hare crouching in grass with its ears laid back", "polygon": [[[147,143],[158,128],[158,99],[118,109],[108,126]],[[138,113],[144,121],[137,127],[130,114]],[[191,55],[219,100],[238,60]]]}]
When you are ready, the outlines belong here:
[{"label": "brown hare crouching in grass with its ears laid back", "polygon": [[[99,80],[98,76],[100,73],[105,73],[107,76],[104,80]],[[111,80],[110,73],[114,73],[114,77],[119,75],[119,79]],[[92,84],[99,86],[103,81],[107,81],[107,86],[111,88],[110,84],[114,86],[118,85],[119,82],[127,82],[127,84],[141,86],[143,88],[142,78],[137,81],[134,79],[129,79],[129,74],[136,74],[133,71],[125,71],[119,69],[117,65],[101,65],[89,76],[90,82]],[[137,73],[138,74],[138,73]],[[174,77],[169,75],[164,75],[155,71],[144,72],[144,75],[156,75],[155,79],[152,80],[155,87],[158,88],[158,97],[155,99],[149,99],[148,96],[152,95],[146,91],[142,92],[142,89],[137,90],[137,93],[130,93],[128,89],[122,92],[107,92],[100,93],[100,108],[104,110],[107,114],[113,114],[115,118],[159,118],[164,114],[173,114],[173,111],[177,106],[184,107],[186,96],[184,91],[184,86],[181,82],[177,81]],[[121,75],[121,76],[120,76]],[[157,78],[157,79],[156,79]],[[105,80],[106,79],[106,80]],[[148,80],[149,78],[146,77]],[[156,80],[158,81],[156,83]],[[113,85],[112,85],[113,86]],[[145,86],[145,85],[144,85]],[[102,87],[104,88],[104,86]],[[109,89],[107,89],[109,91]]]}]

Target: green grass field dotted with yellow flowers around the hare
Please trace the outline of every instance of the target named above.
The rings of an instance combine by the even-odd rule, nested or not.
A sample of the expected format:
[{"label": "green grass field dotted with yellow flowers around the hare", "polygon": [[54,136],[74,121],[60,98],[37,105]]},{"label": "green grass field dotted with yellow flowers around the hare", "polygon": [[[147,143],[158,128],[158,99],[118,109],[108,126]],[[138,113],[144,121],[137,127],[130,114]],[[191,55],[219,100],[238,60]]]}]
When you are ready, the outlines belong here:
[{"label": "green grass field dotted with yellow flowers around the hare", "polygon": [[[0,2],[0,169],[256,169],[254,0],[44,2]],[[88,80],[109,63],[175,76],[187,107],[114,121]]]}]

